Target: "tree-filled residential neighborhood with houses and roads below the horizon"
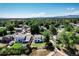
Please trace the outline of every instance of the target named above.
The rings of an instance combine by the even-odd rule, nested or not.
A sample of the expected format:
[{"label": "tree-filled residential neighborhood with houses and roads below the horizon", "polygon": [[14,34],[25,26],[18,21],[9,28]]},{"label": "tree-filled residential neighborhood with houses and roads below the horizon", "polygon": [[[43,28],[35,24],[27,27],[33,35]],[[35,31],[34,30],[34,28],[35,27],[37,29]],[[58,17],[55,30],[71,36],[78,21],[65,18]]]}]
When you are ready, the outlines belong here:
[{"label": "tree-filled residential neighborhood with houses and roads below the horizon", "polygon": [[[38,23],[38,21],[40,23]],[[48,21],[51,21],[51,23],[49,22],[50,23],[49,24]],[[59,19],[43,20],[42,22],[45,23],[42,23],[41,20],[28,20],[28,21],[20,20],[17,21],[18,23],[17,25],[14,24],[15,21],[13,20],[12,21],[9,20],[8,22],[6,21],[5,26],[0,27],[0,52],[1,52],[0,55],[29,55],[29,56],[78,55],[79,24],[69,22],[69,20],[66,20],[65,21],[66,23],[62,21],[64,22],[64,24],[56,26],[55,24],[52,24],[53,21],[54,22],[59,21]],[[2,29],[4,30],[1,32]],[[69,38],[71,38],[71,41],[69,41],[70,40]],[[65,39],[68,40],[67,42],[69,42],[68,44],[70,45],[70,48],[76,54],[74,54],[71,50],[70,50],[71,52],[70,51],[65,52],[65,50],[67,49],[66,48],[67,45],[64,44],[66,43],[64,41]]]}]

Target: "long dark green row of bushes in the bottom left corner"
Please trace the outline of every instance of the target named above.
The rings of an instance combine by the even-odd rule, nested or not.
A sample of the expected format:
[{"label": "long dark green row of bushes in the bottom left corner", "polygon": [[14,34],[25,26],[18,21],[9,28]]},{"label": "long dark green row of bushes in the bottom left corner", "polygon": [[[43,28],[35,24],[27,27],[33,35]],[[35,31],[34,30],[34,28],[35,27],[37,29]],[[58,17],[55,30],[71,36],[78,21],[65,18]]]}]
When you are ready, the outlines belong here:
[{"label": "long dark green row of bushes in the bottom left corner", "polygon": [[[19,44],[18,44],[19,45]],[[2,56],[9,56],[9,55],[21,55],[21,54],[26,54],[29,55],[31,53],[31,48],[26,46],[22,47],[17,47],[17,48],[2,48],[0,49],[0,55]]]}]

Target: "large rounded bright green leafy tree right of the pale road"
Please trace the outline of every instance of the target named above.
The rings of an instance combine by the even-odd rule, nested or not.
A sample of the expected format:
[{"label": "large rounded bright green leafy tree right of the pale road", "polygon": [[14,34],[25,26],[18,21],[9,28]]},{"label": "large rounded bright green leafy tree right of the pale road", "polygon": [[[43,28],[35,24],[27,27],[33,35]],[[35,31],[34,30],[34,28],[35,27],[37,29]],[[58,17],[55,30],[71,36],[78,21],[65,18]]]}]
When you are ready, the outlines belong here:
[{"label": "large rounded bright green leafy tree right of the pale road", "polygon": [[76,40],[76,36],[73,32],[62,32],[58,36],[59,43],[62,43],[62,45],[66,47],[74,47]]}]

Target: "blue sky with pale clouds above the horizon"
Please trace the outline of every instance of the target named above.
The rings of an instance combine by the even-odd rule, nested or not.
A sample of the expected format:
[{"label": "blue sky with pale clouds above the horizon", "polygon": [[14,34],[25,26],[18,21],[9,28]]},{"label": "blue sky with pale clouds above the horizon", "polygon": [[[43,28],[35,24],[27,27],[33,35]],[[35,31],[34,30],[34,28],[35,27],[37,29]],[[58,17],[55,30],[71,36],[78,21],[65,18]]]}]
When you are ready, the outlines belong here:
[{"label": "blue sky with pale clouds above the horizon", "polygon": [[0,18],[79,15],[79,3],[0,3]]}]

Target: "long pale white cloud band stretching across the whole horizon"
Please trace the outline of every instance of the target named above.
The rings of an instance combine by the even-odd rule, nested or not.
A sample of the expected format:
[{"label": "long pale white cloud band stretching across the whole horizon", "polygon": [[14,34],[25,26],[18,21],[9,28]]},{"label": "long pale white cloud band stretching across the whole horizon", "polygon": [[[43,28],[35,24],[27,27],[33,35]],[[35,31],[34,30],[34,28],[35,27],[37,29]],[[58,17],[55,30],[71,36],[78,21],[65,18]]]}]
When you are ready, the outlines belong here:
[{"label": "long pale white cloud band stretching across the whole horizon", "polygon": [[2,18],[30,18],[30,17],[54,17],[54,16],[65,16],[65,15],[79,15],[79,11],[63,12],[56,14],[48,14],[46,12],[33,13],[33,14],[0,14]]}]

